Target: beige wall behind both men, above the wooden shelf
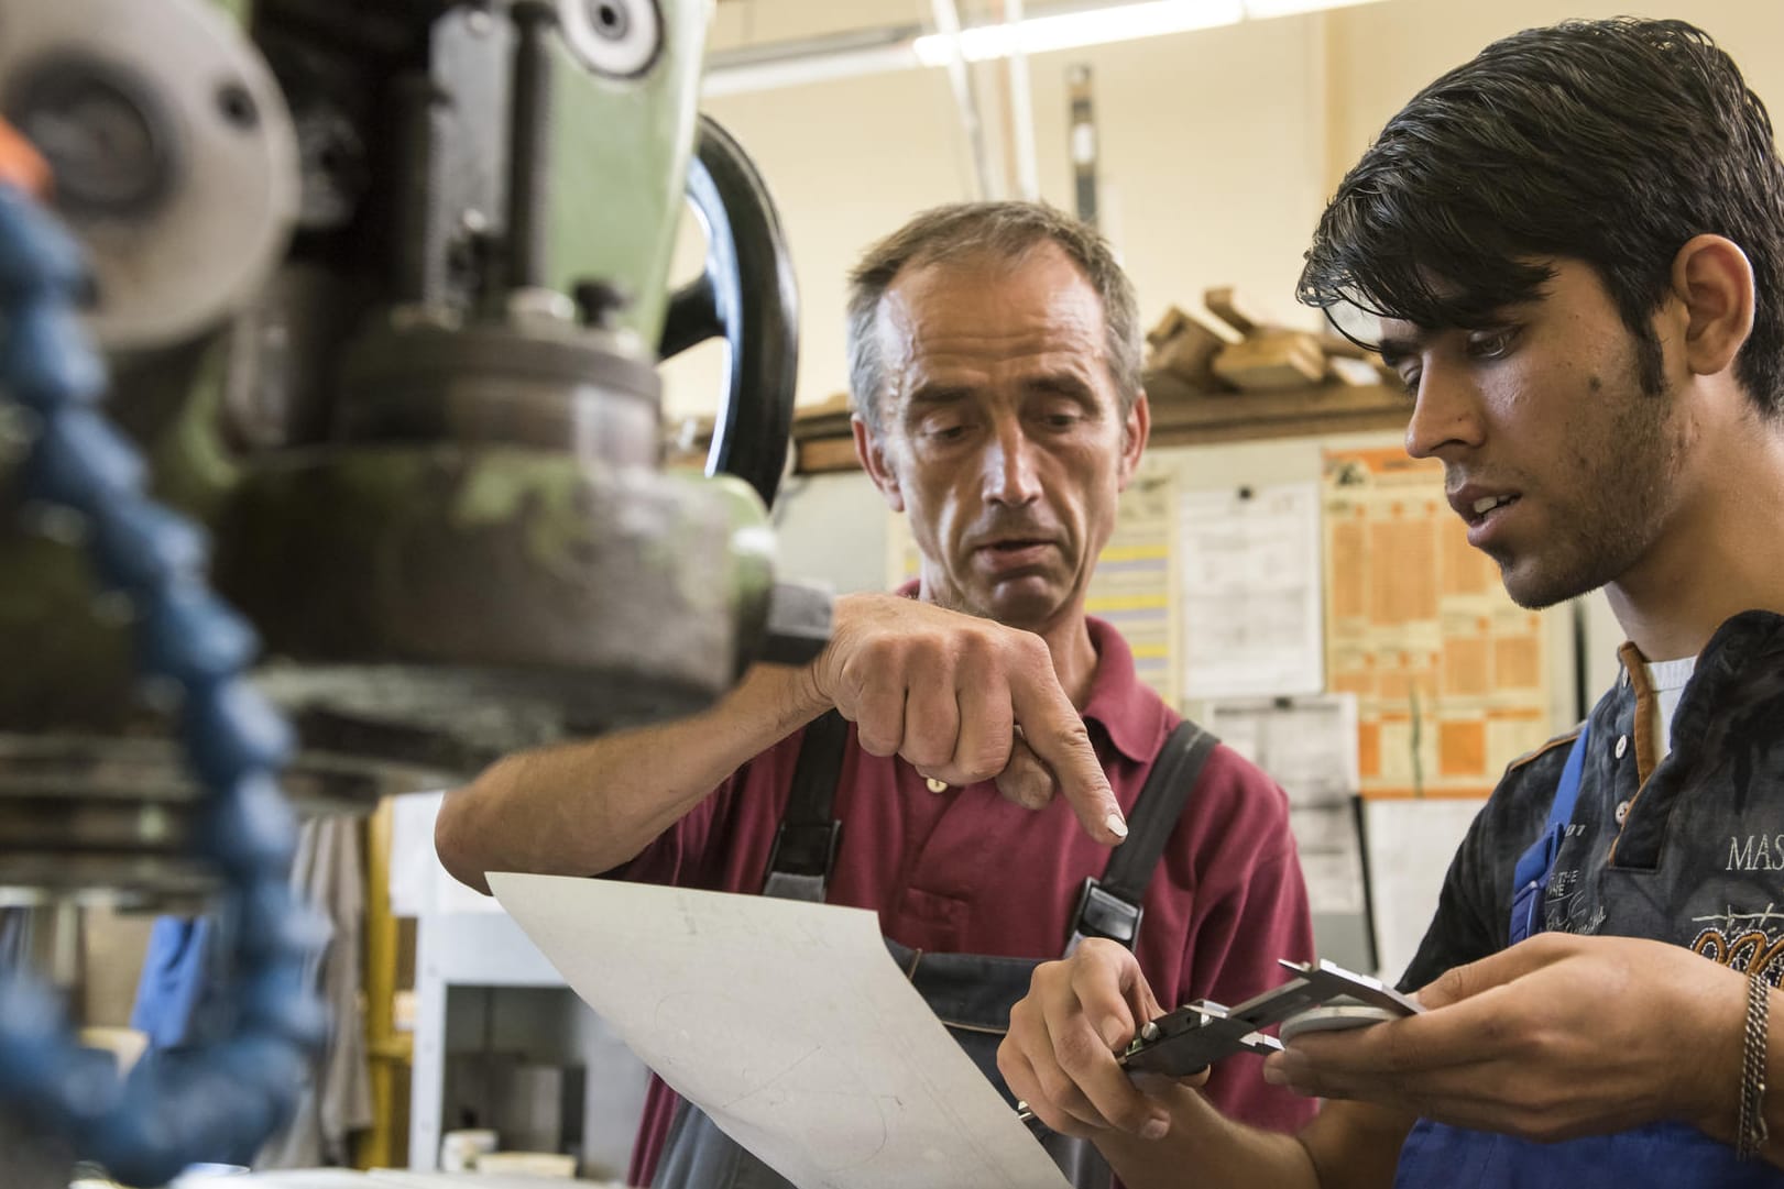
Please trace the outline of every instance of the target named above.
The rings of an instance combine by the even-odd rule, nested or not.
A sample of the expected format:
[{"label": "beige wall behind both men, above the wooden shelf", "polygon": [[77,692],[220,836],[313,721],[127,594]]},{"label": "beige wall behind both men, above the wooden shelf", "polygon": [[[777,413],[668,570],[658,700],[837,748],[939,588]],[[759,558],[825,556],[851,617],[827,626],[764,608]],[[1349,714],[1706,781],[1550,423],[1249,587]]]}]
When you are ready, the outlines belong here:
[{"label": "beige wall behind both men, above the wooden shelf", "polygon": [[[913,0],[744,0],[719,9],[714,43],[921,20]],[[1236,283],[1261,314],[1317,319],[1293,301],[1301,251],[1326,194],[1379,127],[1420,86],[1490,39],[1627,4],[1586,0],[1384,0],[1326,14],[1251,21],[1031,59],[1042,196],[1070,205],[1065,70],[1090,62],[1110,232],[1147,323],[1202,289]],[[1668,9],[1648,9],[1663,14]],[[1670,5],[1704,25],[1784,114],[1784,4],[1691,0]],[[997,68],[981,68],[988,91]],[[842,278],[876,235],[922,207],[967,198],[972,169],[942,71],[869,75],[714,98],[706,109],[755,155],[787,225],[803,299],[799,401],[846,383]],[[985,105],[990,135],[995,103]],[[683,237],[681,271],[698,260]],[[721,351],[701,348],[667,371],[678,415],[717,403]]]}]

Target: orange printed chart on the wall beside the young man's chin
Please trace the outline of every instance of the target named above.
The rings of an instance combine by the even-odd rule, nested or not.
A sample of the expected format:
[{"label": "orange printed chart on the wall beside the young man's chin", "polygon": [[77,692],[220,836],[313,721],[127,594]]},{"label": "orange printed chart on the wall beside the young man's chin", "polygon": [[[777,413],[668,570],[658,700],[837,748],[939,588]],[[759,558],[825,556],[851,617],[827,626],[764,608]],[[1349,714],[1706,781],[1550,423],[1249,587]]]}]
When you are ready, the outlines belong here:
[{"label": "orange printed chart on the wall beside the young man's chin", "polygon": [[1443,465],[1327,451],[1326,685],[1358,699],[1365,797],[1486,797],[1549,729],[1547,631],[1443,497]]}]

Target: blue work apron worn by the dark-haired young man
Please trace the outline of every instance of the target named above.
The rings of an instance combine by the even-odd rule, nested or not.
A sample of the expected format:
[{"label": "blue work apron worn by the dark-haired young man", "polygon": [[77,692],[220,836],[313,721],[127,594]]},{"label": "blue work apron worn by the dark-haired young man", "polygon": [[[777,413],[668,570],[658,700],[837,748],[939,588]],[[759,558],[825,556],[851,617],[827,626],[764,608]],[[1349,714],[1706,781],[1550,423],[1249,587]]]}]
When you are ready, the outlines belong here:
[{"label": "blue work apron worn by the dark-haired young man", "polygon": [[[1511,945],[1541,932],[1543,895],[1556,852],[1573,818],[1586,727],[1561,772],[1543,836],[1518,859],[1511,897]],[[1732,1077],[1730,1070],[1730,1077]],[[1395,1189],[1784,1189],[1784,1171],[1763,1160],[1736,1160],[1734,1148],[1684,1123],[1648,1123],[1615,1136],[1552,1144],[1474,1132],[1418,1119]]]}]

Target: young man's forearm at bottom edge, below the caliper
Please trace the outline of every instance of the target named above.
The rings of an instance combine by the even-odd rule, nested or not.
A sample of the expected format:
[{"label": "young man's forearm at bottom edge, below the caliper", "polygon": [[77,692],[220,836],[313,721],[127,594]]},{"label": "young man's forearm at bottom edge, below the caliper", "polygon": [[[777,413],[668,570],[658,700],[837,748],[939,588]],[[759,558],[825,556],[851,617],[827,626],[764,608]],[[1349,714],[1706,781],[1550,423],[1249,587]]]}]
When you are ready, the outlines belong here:
[{"label": "young man's forearm at bottom edge, below the caliper", "polygon": [[1127,1189],[1388,1189],[1411,1119],[1329,1102],[1295,1136],[1235,1123],[1188,1087],[1170,1091],[1170,1134],[1104,1132],[1097,1148]]}]

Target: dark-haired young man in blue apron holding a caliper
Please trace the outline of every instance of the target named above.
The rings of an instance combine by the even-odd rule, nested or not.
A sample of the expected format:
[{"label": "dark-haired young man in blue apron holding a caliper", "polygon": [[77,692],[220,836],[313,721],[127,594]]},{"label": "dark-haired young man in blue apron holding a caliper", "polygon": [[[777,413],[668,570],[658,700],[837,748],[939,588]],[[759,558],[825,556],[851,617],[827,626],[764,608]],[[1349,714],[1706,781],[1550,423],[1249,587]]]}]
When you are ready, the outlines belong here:
[{"label": "dark-haired young man in blue apron holding a caliper", "polygon": [[[1784,168],[1764,107],[1679,21],[1499,41],[1350,171],[1301,296],[1381,316],[1408,451],[1443,462],[1518,603],[1606,588],[1623,672],[1470,829],[1402,980],[1427,1011],[1270,1059],[1272,1082],[1336,1100],[1297,1137],[1135,1089],[1110,1046],[1158,998],[1106,947],[1037,972],[999,1054],[1012,1089],[1136,1187],[1784,1185],[1764,1089],[1784,1084]],[[1557,849],[1532,849],[1550,829]]]}]

